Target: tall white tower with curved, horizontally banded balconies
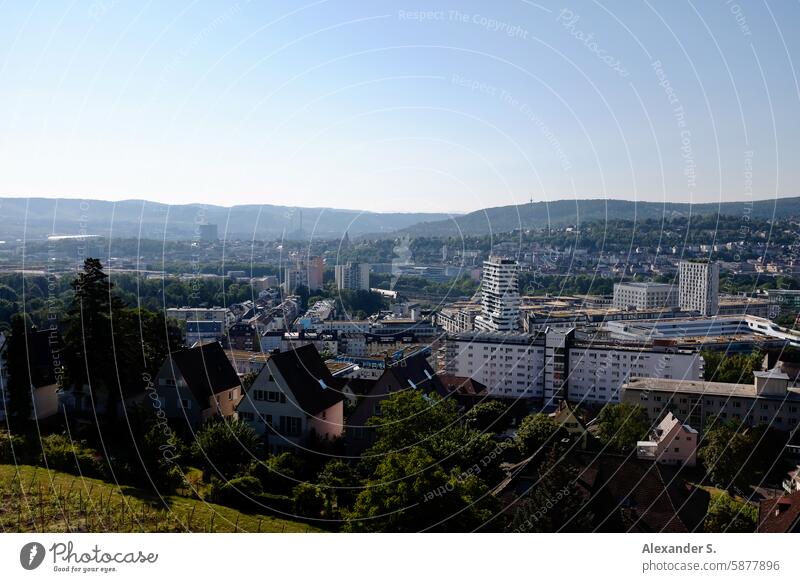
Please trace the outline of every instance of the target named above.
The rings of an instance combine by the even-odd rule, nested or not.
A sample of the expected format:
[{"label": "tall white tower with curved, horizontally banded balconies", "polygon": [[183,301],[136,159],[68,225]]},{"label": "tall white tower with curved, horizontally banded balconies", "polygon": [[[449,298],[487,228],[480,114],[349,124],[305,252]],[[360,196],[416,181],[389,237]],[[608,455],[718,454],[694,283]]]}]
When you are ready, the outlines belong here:
[{"label": "tall white tower with curved, horizontally banded balconies", "polygon": [[489,257],[483,263],[481,314],[475,328],[481,331],[515,331],[519,327],[519,263]]}]

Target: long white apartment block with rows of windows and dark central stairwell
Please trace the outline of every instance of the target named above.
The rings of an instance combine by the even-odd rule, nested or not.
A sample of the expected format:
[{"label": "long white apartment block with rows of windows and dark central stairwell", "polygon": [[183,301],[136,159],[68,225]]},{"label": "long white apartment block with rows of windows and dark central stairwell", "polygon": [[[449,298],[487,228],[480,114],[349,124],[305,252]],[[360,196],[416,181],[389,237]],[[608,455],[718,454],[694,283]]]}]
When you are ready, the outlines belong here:
[{"label": "long white apartment block with rows of windows and dark central stairwell", "polygon": [[472,332],[451,336],[444,350],[447,374],[486,385],[500,398],[534,398],[585,404],[619,402],[630,378],[684,379],[703,376],[696,352],[577,342],[574,334]]}]

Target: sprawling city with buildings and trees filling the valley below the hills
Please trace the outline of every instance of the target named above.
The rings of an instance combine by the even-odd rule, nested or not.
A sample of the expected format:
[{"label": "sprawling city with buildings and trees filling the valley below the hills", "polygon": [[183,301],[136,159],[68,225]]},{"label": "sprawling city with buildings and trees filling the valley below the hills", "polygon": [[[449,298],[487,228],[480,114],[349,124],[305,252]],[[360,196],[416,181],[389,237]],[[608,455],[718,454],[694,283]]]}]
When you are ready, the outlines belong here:
[{"label": "sprawling city with buildings and trees filling the valley below the hills", "polygon": [[[797,526],[800,205],[716,216],[714,231],[675,217],[659,245],[650,219],[457,245],[414,225],[314,238],[302,214],[275,240],[206,222],[135,247],[99,232],[6,241],[3,462],[248,523],[154,505],[149,525],[84,515],[88,531]],[[17,505],[7,528],[76,527]]]}]

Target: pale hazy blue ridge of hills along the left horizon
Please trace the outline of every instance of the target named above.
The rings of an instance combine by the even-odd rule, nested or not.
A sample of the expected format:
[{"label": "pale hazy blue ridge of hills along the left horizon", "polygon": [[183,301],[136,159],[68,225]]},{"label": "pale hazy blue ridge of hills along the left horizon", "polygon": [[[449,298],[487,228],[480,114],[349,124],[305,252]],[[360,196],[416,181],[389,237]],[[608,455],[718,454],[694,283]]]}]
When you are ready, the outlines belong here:
[{"label": "pale hazy blue ridge of hills along the left horizon", "polygon": [[[227,239],[307,239],[386,234],[447,214],[377,213],[271,204],[167,205],[143,200],[107,202],[66,198],[0,198],[2,239],[41,239],[50,234],[93,234],[151,239],[191,239],[196,223],[219,227]],[[227,233],[227,235],[225,234]]]}]

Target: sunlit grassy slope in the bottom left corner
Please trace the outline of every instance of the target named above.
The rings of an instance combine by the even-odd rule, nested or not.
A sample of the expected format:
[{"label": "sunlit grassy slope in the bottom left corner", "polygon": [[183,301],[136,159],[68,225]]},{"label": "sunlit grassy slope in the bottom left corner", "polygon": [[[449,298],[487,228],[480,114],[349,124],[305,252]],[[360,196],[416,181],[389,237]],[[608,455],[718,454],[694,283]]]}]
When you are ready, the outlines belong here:
[{"label": "sunlit grassy slope in the bottom left corner", "polygon": [[3,532],[306,532],[304,523],[42,467],[0,465]]}]

